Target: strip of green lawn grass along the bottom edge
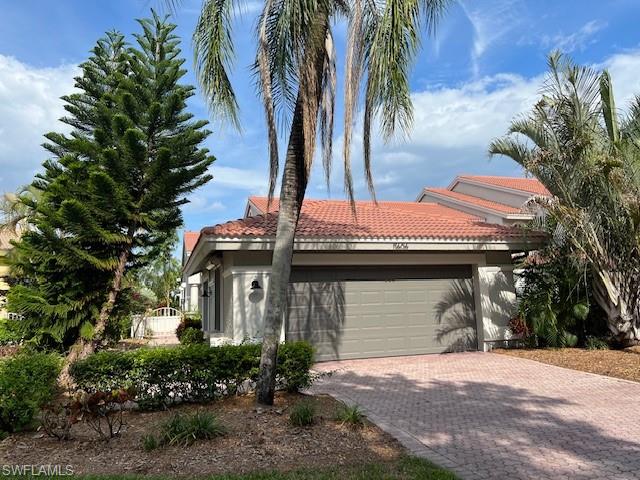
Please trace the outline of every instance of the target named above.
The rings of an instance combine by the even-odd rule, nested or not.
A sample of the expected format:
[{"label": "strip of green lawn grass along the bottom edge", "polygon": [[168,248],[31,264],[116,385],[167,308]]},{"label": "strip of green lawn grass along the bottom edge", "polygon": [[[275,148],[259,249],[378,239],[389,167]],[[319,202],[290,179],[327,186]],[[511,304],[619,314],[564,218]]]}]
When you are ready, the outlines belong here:
[{"label": "strip of green lawn grass along the bottom edge", "polygon": [[[59,478],[62,480],[69,477],[23,476],[12,478]],[[176,478],[176,475],[74,475],[72,478],[83,480],[169,480]],[[242,475],[190,476],[189,478],[202,480],[457,480],[458,477],[421,458],[402,457],[394,462],[334,467],[328,470],[296,470],[287,473],[258,472]]]}]

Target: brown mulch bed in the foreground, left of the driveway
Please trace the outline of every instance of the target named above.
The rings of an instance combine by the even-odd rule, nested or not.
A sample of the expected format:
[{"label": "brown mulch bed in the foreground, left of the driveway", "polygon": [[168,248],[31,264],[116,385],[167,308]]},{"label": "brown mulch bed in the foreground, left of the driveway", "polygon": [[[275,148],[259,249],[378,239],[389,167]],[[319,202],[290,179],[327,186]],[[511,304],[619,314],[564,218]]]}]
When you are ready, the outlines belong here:
[{"label": "brown mulch bed in the foreground, left of the driveway", "polygon": [[[194,476],[290,471],[369,462],[388,462],[405,453],[403,447],[376,426],[353,428],[333,420],[338,403],[315,396],[314,425],[289,424],[289,408],[308,396],[281,393],[276,406],[256,409],[253,396],[234,397],[208,405],[184,405],[164,412],[127,412],[126,430],[109,442],[96,439],[84,424],[74,426],[73,439],[59,441],[39,432],[11,435],[0,442],[0,465],[72,465],[75,474],[165,474]],[[189,447],[142,448],[142,436],[177,412],[213,412],[229,433]]]}]

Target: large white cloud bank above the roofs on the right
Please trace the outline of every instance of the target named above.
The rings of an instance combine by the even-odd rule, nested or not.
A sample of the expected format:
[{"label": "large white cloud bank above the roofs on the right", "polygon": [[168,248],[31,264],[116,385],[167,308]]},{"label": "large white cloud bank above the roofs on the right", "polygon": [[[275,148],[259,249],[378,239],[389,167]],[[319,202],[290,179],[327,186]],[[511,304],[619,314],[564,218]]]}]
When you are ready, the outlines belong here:
[{"label": "large white cloud bank above the roofs on the right", "polygon": [[[596,68],[609,69],[619,108],[640,94],[640,50],[613,55]],[[489,161],[487,148],[494,138],[506,133],[514,118],[531,110],[540,97],[544,78],[545,72],[530,78],[499,74],[455,88],[414,92],[414,127],[407,139],[385,145],[377,132],[373,135],[372,165],[378,196],[413,199],[422,187],[446,186],[461,173],[521,174],[521,168],[509,159]],[[361,144],[359,125],[353,139],[352,171],[358,197],[367,198]],[[331,191],[341,197],[341,140],[335,145]],[[325,192],[322,171],[316,165],[311,195]]]}]

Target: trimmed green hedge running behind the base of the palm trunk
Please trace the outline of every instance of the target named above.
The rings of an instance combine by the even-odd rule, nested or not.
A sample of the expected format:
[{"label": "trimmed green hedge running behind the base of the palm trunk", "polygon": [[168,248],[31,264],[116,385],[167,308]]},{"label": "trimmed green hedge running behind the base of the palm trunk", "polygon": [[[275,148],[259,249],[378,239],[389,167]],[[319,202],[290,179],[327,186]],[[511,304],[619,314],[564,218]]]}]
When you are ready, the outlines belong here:
[{"label": "trimmed green hedge running behind the base of the palm trunk", "polygon": [[[258,378],[260,350],[260,344],[247,343],[103,351],[76,362],[70,373],[78,387],[88,392],[133,387],[139,407],[153,410],[246,391]],[[278,387],[289,391],[309,387],[312,364],[309,343],[280,345]]]}]

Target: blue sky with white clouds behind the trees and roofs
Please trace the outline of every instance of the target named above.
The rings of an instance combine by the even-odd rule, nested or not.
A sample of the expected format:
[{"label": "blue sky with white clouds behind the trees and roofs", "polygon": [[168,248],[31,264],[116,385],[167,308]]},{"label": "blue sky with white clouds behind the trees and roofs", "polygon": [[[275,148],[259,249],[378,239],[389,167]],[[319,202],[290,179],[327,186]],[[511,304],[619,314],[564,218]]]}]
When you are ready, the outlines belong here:
[{"label": "blue sky with white clouds behind the trees and roofs", "polygon": [[[73,88],[76,65],[106,30],[130,35],[135,18],[160,0],[0,0],[0,191],[28,183],[46,158],[42,134],[63,127],[61,95]],[[184,0],[174,18],[192,73],[191,32],[200,1]],[[267,188],[263,113],[250,71],[253,27],[260,2],[246,1],[235,21],[237,59],[233,82],[243,132],[212,118],[206,145],[217,161],[214,180],[193,193],[184,208],[185,226],[200,229],[242,216],[250,194]],[[385,145],[375,136],[373,161],[383,199],[412,200],[423,186],[444,186],[459,173],[519,175],[506,159],[487,158],[489,142],[538,96],[546,55],[554,48],[581,63],[609,68],[618,105],[640,93],[640,2],[637,0],[459,0],[440,24],[436,38],[424,38],[411,77],[415,125],[404,140]],[[339,57],[344,24],[334,26]],[[341,66],[339,66],[339,69]],[[341,70],[339,71],[339,78]],[[338,92],[338,99],[342,92]],[[191,111],[209,116],[201,96]],[[336,168],[331,188],[314,168],[308,197],[343,198],[340,169],[342,109],[336,122]],[[367,198],[361,175],[359,128],[353,151],[357,195]]]}]

